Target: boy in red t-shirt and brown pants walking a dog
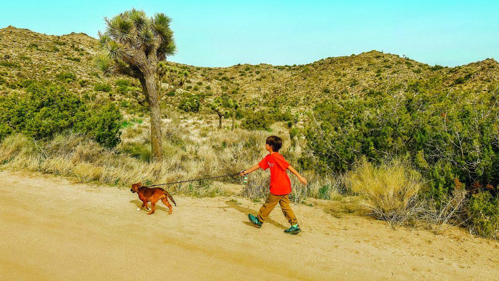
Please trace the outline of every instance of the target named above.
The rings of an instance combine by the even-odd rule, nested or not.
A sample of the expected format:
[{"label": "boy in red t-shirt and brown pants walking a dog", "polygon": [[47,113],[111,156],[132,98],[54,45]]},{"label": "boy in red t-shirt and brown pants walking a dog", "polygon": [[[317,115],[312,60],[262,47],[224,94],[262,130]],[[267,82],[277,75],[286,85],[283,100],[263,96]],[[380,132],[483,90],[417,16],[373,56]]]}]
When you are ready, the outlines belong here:
[{"label": "boy in red t-shirt and brown pants walking a dog", "polygon": [[248,214],[250,221],[258,228],[261,227],[262,223],[267,218],[268,214],[272,209],[279,203],[284,216],[287,218],[291,227],[284,230],[284,232],[289,234],[297,234],[301,231],[296,216],[294,215],[291,206],[289,205],[289,193],[291,193],[291,181],[287,176],[286,169],[289,169],[294,173],[302,184],[307,184],[307,180],[301,176],[286,160],[279,154],[279,149],[282,147],[282,140],[280,137],[271,135],[267,137],[265,141],[265,149],[267,149],[268,154],[256,165],[251,168],[242,171],[240,175],[249,174],[259,168],[267,169],[270,168],[270,193],[268,194],[265,203],[258,210],[258,216]]}]

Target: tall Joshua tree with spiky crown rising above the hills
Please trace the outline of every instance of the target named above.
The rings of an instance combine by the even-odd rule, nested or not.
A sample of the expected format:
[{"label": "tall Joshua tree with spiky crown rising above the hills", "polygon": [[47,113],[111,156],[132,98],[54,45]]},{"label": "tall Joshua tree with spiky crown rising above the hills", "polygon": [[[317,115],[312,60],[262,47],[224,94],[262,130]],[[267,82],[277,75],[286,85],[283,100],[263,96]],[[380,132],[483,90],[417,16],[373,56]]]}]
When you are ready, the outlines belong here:
[{"label": "tall Joshua tree with spiky crown rising above the hills", "polygon": [[[127,75],[140,81],[151,116],[152,160],[161,161],[160,101],[182,86],[188,75],[164,62],[176,50],[171,18],[164,13],[148,17],[144,11],[132,9],[104,20],[106,31],[99,31],[102,53],[96,58],[97,66],[105,75]],[[168,83],[166,89],[162,89],[163,80]]]}]

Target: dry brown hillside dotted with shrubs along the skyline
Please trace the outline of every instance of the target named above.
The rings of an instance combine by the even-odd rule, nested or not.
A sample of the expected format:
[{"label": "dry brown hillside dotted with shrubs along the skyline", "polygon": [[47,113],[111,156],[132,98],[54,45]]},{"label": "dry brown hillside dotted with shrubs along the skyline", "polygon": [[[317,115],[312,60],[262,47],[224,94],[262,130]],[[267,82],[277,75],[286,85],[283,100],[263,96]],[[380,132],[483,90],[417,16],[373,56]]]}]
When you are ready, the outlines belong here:
[{"label": "dry brown hillside dotted with shrubs along the skyline", "polygon": [[[93,57],[97,52],[97,40],[84,33],[54,36],[13,26],[0,29],[0,92],[22,86],[20,83],[25,79],[46,79],[63,83],[71,91],[82,94],[133,100],[133,95],[140,92],[136,81],[121,77],[130,81],[131,90],[120,90],[120,77],[104,77],[94,67]],[[369,90],[404,90],[408,83],[432,77],[441,79],[444,91],[477,92],[487,91],[489,85],[499,79],[499,63],[494,59],[442,67],[376,50],[302,65],[171,64],[190,72],[187,85],[177,97],[200,93],[216,96],[228,92],[243,104],[262,104],[269,97],[280,96],[296,108],[342,93],[362,95]],[[177,97],[170,97],[167,102],[175,103]]]}]

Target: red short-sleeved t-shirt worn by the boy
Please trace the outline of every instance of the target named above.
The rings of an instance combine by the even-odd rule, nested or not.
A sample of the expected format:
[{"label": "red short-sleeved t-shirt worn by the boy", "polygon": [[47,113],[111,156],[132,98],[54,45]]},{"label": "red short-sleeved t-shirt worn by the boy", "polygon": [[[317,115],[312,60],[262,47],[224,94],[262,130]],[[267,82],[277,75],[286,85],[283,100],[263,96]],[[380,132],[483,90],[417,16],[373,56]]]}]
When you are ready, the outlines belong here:
[{"label": "red short-sleeved t-shirt worn by the boy", "polygon": [[291,180],[286,169],[289,163],[278,152],[267,154],[259,163],[262,169],[270,168],[270,193],[285,195],[291,193]]}]

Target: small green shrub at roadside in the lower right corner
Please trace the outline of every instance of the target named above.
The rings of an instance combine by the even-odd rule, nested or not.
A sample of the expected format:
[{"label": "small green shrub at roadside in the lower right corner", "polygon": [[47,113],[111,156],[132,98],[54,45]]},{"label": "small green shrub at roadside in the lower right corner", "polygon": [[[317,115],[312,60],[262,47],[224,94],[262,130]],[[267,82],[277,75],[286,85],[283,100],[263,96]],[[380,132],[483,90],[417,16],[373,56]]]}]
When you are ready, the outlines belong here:
[{"label": "small green shrub at roadside in the lower right corner", "polygon": [[499,238],[499,198],[488,191],[473,194],[468,207],[470,230],[478,235]]}]

